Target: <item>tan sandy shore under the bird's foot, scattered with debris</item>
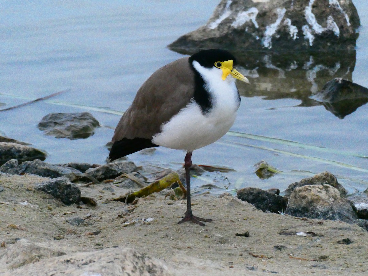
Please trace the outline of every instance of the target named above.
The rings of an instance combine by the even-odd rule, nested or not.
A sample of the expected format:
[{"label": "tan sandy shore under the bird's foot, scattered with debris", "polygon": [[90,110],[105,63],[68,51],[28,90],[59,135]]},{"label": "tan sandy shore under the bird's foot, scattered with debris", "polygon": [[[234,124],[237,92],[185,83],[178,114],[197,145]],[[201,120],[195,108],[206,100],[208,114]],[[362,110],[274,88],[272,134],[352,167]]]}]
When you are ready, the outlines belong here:
[{"label": "tan sandy shore under the bird's foot, scattered with debris", "polygon": [[[0,258],[24,238],[66,254],[133,248],[162,260],[173,275],[368,273],[368,232],[356,225],[263,213],[230,195],[194,197],[195,215],[213,222],[205,227],[178,225],[186,202],[165,200],[164,193],[127,206],[110,200],[119,195],[116,191],[104,190],[103,184],[91,185],[81,187],[82,196],[95,198],[97,206],[66,206],[33,190],[33,184],[42,180],[33,175],[0,176],[4,188],[0,192]],[[67,222],[75,216],[85,219],[84,223]],[[149,218],[153,220],[145,224],[138,220]],[[236,236],[246,231],[249,237]],[[300,232],[307,236],[292,235]],[[346,238],[352,243],[341,242]],[[31,273],[37,263],[22,267]],[[0,275],[12,275],[12,271],[1,263]]]}]

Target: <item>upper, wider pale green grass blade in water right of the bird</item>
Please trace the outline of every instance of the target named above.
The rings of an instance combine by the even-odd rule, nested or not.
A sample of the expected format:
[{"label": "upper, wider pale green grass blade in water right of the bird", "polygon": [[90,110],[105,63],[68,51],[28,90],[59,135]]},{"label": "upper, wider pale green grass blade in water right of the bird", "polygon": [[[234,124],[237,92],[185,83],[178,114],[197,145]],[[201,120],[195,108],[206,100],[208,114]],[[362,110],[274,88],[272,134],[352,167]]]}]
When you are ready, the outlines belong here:
[{"label": "upper, wider pale green grass blade in water right of the bird", "polygon": [[289,140],[284,140],[284,139],[279,139],[279,138],[271,138],[271,137],[266,137],[266,136],[261,136],[261,135],[248,134],[248,133],[243,133],[243,132],[228,131],[227,135],[241,137],[241,138],[248,138],[248,139],[263,141],[263,142],[270,142],[274,144],[311,149],[314,151],[329,152],[329,153],[335,153],[339,155],[355,156],[355,157],[360,157],[360,158],[368,158],[368,156],[360,155],[355,152],[339,151],[337,149],[329,149],[329,148],[324,148],[321,146],[313,146],[313,145],[303,144],[299,142],[294,142],[294,141],[289,141]]}]

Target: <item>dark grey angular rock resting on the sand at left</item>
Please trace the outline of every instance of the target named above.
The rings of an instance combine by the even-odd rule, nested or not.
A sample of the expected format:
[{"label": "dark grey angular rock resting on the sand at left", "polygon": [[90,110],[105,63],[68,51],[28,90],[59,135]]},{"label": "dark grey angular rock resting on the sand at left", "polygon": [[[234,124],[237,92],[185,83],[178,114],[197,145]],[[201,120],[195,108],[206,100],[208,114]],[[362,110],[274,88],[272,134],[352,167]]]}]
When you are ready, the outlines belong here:
[{"label": "dark grey angular rock resting on the sand at left", "polygon": [[81,199],[81,191],[77,185],[65,176],[37,183],[35,189],[46,192],[67,205],[78,203]]}]

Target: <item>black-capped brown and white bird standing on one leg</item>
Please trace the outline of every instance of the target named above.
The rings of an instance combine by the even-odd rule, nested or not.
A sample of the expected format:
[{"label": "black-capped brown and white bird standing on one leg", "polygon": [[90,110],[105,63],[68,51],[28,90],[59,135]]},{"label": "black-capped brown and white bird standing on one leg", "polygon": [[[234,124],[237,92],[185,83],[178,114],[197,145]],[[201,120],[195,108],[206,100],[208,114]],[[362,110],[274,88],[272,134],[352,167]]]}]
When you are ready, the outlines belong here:
[{"label": "black-capped brown and white bird standing on one leg", "polygon": [[227,50],[207,49],[159,68],[138,89],[115,128],[110,162],[157,146],[186,152],[187,210],[179,224],[212,221],[193,215],[189,170],[192,152],[220,139],[235,121],[240,106],[235,80],[250,83],[234,69],[236,64]]}]

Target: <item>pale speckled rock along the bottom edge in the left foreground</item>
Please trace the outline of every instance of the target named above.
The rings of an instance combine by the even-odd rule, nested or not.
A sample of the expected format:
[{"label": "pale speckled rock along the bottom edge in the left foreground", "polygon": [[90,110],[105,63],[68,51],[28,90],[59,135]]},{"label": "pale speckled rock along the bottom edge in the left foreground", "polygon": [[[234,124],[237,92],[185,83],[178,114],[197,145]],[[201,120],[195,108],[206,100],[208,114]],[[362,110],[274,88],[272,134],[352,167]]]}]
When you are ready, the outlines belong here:
[{"label": "pale speckled rock along the bottom edge in the left foreground", "polygon": [[11,271],[13,276],[174,275],[166,264],[130,248],[105,248],[44,259]]}]

